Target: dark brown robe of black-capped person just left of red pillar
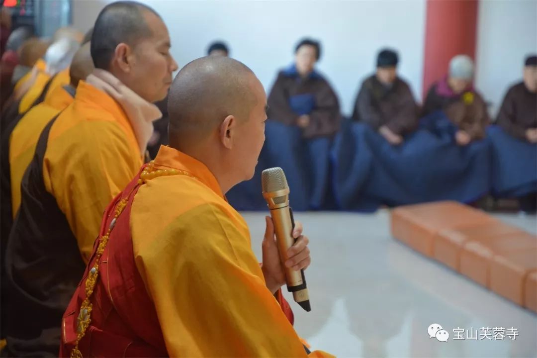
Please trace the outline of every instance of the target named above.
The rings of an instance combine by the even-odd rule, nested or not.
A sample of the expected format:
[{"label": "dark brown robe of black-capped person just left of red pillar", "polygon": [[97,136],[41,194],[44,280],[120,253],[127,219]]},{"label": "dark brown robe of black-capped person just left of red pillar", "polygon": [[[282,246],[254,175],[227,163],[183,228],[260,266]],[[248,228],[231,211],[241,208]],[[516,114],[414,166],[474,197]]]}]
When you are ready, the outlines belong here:
[{"label": "dark brown robe of black-capped person just left of red pillar", "polygon": [[418,125],[418,107],[409,85],[401,78],[387,87],[373,75],[362,83],[352,120],[375,130],[386,126],[395,134],[405,135]]}]

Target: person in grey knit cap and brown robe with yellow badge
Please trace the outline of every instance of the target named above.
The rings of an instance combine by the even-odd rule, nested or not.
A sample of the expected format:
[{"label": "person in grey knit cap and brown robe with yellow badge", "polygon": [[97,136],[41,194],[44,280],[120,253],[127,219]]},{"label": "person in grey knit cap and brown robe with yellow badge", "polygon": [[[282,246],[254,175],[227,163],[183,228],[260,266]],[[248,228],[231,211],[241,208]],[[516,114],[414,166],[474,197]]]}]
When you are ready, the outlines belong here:
[{"label": "person in grey knit cap and brown robe with yellow badge", "polygon": [[431,86],[423,107],[423,115],[444,111],[457,128],[455,141],[459,145],[484,138],[490,122],[487,105],[472,85],[473,77],[474,63],[470,57],[453,57],[448,75]]}]

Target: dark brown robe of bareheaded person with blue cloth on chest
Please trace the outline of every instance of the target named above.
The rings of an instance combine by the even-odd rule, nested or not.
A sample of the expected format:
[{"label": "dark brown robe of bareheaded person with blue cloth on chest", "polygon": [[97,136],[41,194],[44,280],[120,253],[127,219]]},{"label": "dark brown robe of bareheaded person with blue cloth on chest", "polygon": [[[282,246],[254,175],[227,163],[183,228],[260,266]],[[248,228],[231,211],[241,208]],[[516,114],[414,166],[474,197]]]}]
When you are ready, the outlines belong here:
[{"label": "dark brown robe of bareheaded person with blue cloth on chest", "polygon": [[[301,78],[280,71],[269,95],[269,119],[295,126],[300,114],[309,114],[309,126],[303,136],[313,138],[331,136],[340,125],[339,101],[330,84],[321,75]],[[311,94],[314,105],[309,113],[297,113],[290,104],[291,97]]]}]

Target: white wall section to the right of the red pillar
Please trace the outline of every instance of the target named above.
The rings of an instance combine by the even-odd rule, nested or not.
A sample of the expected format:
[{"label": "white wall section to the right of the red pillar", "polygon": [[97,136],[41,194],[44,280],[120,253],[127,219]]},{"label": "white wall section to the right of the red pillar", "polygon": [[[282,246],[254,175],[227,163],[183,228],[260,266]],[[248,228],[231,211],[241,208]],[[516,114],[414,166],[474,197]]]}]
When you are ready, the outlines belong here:
[{"label": "white wall section to the right of the red pillar", "polygon": [[476,86],[496,116],[507,88],[520,81],[524,59],[537,52],[537,1],[482,0],[479,4]]}]

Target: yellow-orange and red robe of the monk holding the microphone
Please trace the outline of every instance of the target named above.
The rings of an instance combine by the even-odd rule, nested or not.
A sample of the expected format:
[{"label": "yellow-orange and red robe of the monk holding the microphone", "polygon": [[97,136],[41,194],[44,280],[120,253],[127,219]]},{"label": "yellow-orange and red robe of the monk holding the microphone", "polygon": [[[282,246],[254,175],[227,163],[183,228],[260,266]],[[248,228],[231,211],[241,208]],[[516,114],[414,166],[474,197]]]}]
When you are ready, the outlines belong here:
[{"label": "yellow-orange and red robe of the monk holding the microphone", "polygon": [[[120,342],[132,349],[149,344],[155,353],[147,354],[158,354],[163,341],[173,357],[306,357],[300,338],[266,287],[244,218],[226,201],[213,174],[198,160],[169,147],[159,150],[154,170],[171,175],[135,186],[140,178],[136,177],[104,215],[85,275],[95,274],[93,267],[101,272],[89,297],[95,308],[87,328],[99,332],[96,339],[101,340],[97,344],[86,337],[78,346],[81,354],[110,356],[113,348],[120,350]],[[125,200],[120,204],[125,210],[120,215],[125,216],[116,221],[120,199]],[[104,239],[109,227],[110,238]],[[132,255],[133,262],[119,265],[125,253]],[[118,276],[133,279],[118,280]],[[81,304],[88,282],[83,280],[64,315],[62,356],[68,356],[76,342],[76,317],[87,318]],[[133,300],[148,295],[142,301],[151,306],[139,318],[125,309],[130,305],[125,293],[130,292],[136,295]],[[114,298],[117,293],[124,293],[117,296],[119,303]],[[109,313],[107,305],[100,303],[105,298],[114,302],[118,313]],[[118,334],[114,340],[105,330],[107,317],[116,315],[122,325],[109,329],[116,334],[129,332],[129,337]],[[143,322],[135,324],[137,319]],[[139,339],[133,338],[133,332]],[[316,351],[310,356],[330,355]]]}]

